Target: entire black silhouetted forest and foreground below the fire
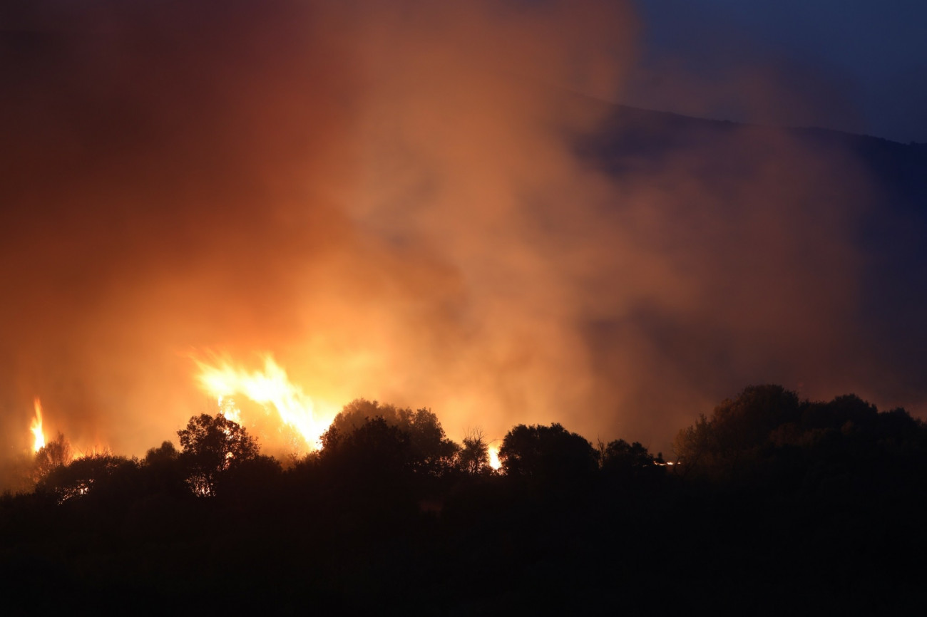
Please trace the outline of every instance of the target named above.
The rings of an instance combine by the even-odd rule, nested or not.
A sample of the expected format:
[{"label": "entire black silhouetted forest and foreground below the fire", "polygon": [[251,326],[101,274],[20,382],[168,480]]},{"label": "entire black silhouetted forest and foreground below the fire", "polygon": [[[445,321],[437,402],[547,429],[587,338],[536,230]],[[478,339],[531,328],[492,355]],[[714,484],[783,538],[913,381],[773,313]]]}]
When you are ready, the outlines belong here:
[{"label": "entire black silhouetted forest and foreground below the fire", "polygon": [[[222,415],[143,459],[63,435],[0,498],[15,614],[887,614],[922,606],[927,425],[749,386],[672,453],[357,399],[277,460]],[[7,613],[12,614],[12,613]]]}]

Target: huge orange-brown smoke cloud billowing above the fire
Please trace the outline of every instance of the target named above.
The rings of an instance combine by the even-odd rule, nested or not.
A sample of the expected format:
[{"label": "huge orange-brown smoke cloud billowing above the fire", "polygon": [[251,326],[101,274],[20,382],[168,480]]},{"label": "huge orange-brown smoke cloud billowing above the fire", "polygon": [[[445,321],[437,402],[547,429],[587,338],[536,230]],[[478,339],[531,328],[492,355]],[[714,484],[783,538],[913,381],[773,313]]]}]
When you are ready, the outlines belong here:
[{"label": "huge orange-brown smoke cloud billowing above the fire", "polygon": [[458,440],[562,422],[668,451],[765,382],[920,409],[922,325],[868,296],[859,160],[734,125],[603,143],[630,5],[3,11],[7,454],[33,397],[48,434],[143,453],[211,410],[210,353],[273,354],[331,412],[428,406]]}]

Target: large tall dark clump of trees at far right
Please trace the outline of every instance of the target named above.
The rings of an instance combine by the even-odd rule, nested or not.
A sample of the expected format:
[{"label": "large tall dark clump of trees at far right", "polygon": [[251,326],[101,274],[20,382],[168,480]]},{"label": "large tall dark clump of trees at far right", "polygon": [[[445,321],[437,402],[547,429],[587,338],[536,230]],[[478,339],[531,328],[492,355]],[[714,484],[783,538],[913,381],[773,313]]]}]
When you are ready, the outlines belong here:
[{"label": "large tall dark clump of trees at far right", "polygon": [[849,485],[879,466],[887,477],[889,469],[920,464],[924,435],[904,409],[880,413],[855,395],[799,402],[781,385],[760,385],[680,431],[674,447],[683,475]]}]

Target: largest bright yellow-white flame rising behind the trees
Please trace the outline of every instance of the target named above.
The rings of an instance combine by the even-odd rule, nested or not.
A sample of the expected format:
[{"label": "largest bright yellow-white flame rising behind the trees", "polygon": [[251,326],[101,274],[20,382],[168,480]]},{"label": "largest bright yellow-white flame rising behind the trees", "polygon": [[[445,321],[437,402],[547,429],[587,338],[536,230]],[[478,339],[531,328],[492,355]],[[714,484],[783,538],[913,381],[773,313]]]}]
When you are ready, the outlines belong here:
[{"label": "largest bright yellow-white flame rising behind the trees", "polygon": [[[259,403],[264,409],[275,409],[280,421],[292,427],[310,449],[320,449],[319,438],[329,422],[316,419],[315,405],[298,384],[289,381],[286,371],[270,355],[264,356],[262,371],[248,371],[230,359],[216,365],[194,359],[199,368],[200,388],[218,401],[219,412],[233,422],[241,423],[241,409],[235,396],[242,395]],[[334,414],[333,414],[334,415]]]}]

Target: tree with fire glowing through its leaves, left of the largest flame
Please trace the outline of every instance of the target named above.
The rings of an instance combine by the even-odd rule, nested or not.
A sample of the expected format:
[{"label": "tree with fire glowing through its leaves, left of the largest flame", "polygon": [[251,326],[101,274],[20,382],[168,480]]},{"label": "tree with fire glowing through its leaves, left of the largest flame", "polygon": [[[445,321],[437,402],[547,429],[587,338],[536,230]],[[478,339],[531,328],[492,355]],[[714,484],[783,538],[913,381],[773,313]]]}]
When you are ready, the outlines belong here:
[{"label": "tree with fire glowing through its leaves, left of the largest flame", "polygon": [[[222,473],[258,456],[258,441],[225,416],[202,414],[177,431],[187,469],[187,484],[199,496],[215,495]],[[163,447],[163,445],[162,445]]]}]

